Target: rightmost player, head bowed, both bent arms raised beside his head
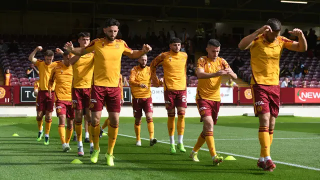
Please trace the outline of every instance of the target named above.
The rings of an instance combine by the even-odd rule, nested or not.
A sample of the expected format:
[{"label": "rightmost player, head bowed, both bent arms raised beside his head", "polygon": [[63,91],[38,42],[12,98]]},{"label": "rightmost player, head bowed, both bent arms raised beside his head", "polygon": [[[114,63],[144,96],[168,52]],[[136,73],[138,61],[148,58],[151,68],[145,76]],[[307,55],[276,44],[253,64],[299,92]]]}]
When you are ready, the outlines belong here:
[{"label": "rightmost player, head bowed, both bent arms raised beside his head", "polygon": [[270,145],[273,138],[275,118],[279,112],[279,61],[283,48],[304,52],[307,44],[300,29],[289,31],[299,41],[292,41],[280,36],[281,22],[268,19],[266,24],[244,37],[238,47],[250,49],[251,53],[251,90],[255,116],[259,117],[258,137],[260,141],[260,157],[257,166],[273,171],[275,164],[270,157]]}]

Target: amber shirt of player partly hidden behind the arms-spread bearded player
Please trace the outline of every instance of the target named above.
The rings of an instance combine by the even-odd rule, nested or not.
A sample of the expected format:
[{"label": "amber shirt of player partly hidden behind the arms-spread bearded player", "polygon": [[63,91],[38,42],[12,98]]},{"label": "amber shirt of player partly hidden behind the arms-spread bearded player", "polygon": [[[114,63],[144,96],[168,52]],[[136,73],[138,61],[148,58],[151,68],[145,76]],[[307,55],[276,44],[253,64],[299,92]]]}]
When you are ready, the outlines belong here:
[{"label": "amber shirt of player partly hidden behind the arms-spread bearded player", "polygon": [[90,88],[93,75],[94,53],[82,55],[73,65],[73,87]]}]

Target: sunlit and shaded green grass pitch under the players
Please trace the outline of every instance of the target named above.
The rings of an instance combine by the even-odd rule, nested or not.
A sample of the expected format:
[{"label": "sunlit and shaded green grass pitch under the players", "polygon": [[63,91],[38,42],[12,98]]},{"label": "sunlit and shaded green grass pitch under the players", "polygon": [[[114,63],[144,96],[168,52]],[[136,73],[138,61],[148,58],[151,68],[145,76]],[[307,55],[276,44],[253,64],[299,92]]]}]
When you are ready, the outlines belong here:
[{"label": "sunlit and shaded green grass pitch under the players", "polygon": [[[104,119],[103,119],[104,120]],[[166,118],[154,118],[155,137],[168,142]],[[271,145],[273,160],[320,169],[320,119],[284,116],[276,120]],[[184,144],[193,146],[202,129],[199,118],[186,118]],[[200,150],[200,162],[193,162],[186,153],[169,154],[166,143],[149,147],[147,140],[135,146],[133,118],[120,118],[119,135],[114,148],[115,166],[104,160],[107,136],[100,139],[101,152],[96,164],[90,164],[88,144],[83,157],[76,156],[76,142],[72,150],[63,153],[57,133],[57,118],[52,121],[50,144],[37,142],[34,117],[0,119],[0,179],[318,179],[320,171],[276,163],[273,172],[256,167],[256,159],[234,156],[212,166],[208,151]],[[247,116],[219,117],[214,126],[216,149],[221,152],[258,157],[257,118]],[[18,133],[18,137],[13,137]],[[175,132],[176,133],[176,132]],[[175,135],[177,137],[177,135]],[[148,138],[146,122],[141,126],[141,137]],[[253,139],[251,139],[253,138]],[[278,139],[292,138],[292,139]],[[228,139],[228,140],[227,140]],[[207,148],[206,144],[203,148]],[[226,157],[226,154],[222,154]],[[78,158],[83,164],[70,164]]]}]

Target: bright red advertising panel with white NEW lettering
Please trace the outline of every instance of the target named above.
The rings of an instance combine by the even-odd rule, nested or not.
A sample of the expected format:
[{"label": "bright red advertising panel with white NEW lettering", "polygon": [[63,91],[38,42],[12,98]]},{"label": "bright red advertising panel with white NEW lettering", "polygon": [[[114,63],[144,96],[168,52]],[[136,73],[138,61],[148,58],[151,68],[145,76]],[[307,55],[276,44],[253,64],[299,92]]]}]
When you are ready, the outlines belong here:
[{"label": "bright red advertising panel with white NEW lettering", "polygon": [[294,88],[295,103],[320,103],[320,88]]}]

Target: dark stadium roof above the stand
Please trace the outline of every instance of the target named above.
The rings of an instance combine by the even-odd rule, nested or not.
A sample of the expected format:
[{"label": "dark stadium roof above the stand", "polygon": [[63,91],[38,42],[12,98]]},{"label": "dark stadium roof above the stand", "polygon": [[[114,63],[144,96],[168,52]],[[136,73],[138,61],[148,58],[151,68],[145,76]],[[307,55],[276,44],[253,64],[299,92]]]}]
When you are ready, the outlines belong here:
[{"label": "dark stadium roof above the stand", "polygon": [[[17,3],[19,1],[20,3]],[[205,4],[209,1],[209,4]],[[10,0],[0,10],[94,13],[96,17],[135,20],[198,22],[265,22],[275,17],[282,23],[318,25],[320,0],[306,4],[280,0]],[[94,8],[93,8],[94,7]]]}]

